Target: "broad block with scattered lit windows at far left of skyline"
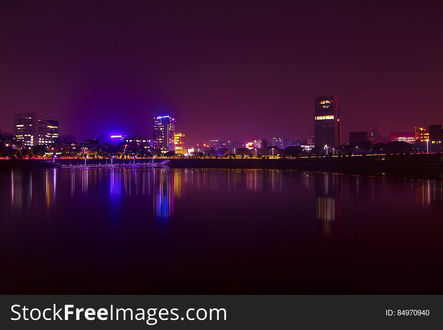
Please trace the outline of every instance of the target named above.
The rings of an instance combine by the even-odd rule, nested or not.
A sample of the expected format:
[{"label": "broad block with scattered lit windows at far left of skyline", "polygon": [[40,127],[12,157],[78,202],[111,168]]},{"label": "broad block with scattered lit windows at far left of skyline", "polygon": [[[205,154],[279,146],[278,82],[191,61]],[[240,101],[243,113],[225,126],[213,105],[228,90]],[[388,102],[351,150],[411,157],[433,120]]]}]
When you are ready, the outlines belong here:
[{"label": "broad block with scattered lit windows at far left of skyline", "polygon": [[15,114],[14,127],[17,141],[24,147],[58,142],[58,120],[45,117],[39,110]]}]

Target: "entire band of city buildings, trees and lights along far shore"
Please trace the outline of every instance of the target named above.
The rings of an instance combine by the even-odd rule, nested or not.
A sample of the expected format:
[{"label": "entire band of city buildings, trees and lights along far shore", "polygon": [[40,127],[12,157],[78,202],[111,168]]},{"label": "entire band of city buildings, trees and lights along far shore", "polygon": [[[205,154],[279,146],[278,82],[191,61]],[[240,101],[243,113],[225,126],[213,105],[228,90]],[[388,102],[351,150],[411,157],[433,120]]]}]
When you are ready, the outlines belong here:
[{"label": "entire band of city buildings, trees and lights along far shore", "polygon": [[176,129],[177,120],[173,116],[162,115],[153,118],[152,135],[112,134],[104,139],[91,138],[85,142],[78,142],[74,136],[59,135],[58,120],[51,119],[36,110],[14,115],[14,133],[0,132],[0,147],[38,155],[49,153],[85,157],[109,154],[119,157],[199,154],[223,156],[238,153],[242,156],[259,157],[300,152],[316,154],[378,152],[383,151],[383,147],[377,147],[378,144],[400,142],[411,145],[403,147],[404,150],[443,152],[442,125],[417,126],[413,132],[391,132],[389,137],[383,137],[376,119],[374,127],[370,130],[349,132],[349,140],[343,142],[340,108],[335,94],[314,99],[313,117],[314,135],[307,137],[306,140],[291,140],[281,135],[274,135],[268,139],[255,137],[242,142],[214,137],[207,140],[208,142],[186,144],[185,134]]}]

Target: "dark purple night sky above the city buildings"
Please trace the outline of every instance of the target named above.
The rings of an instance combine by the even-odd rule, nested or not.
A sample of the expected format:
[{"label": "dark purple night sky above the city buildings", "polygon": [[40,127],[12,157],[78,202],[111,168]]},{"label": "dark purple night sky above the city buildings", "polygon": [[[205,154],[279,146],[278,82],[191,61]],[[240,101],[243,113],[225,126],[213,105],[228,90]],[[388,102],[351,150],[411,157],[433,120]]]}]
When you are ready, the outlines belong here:
[{"label": "dark purple night sky above the city buildings", "polygon": [[443,5],[240,3],[2,3],[0,130],[39,108],[78,140],[162,114],[187,144],[306,139],[333,93],[344,141],[443,124]]}]

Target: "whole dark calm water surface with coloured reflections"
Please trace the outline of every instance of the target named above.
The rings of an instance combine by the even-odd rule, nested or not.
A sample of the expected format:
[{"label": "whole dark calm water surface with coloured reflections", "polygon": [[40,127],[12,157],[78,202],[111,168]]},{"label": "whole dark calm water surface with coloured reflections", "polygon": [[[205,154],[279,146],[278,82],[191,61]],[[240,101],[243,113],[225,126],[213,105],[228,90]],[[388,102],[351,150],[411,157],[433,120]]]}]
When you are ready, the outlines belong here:
[{"label": "whole dark calm water surface with coloured reflections", "polygon": [[443,293],[441,181],[13,169],[0,198],[2,293]]}]

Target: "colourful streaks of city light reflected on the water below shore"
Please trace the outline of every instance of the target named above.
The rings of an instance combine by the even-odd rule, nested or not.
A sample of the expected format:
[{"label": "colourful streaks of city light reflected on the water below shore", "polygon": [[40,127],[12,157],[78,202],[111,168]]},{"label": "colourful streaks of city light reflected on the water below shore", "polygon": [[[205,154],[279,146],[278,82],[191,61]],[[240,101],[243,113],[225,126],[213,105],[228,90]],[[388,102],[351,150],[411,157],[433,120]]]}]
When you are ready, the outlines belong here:
[{"label": "colourful streaks of city light reflected on the water below shore", "polygon": [[[9,205],[16,210],[30,207],[33,196],[38,196],[38,202],[41,202],[42,193],[46,208],[50,208],[56,202],[57,196],[66,193],[69,193],[71,198],[77,194],[87,196],[91,193],[90,190],[94,189],[93,194],[108,193],[110,201],[115,205],[125,196],[148,196],[153,205],[153,214],[162,219],[174,215],[176,199],[185,195],[186,187],[211,191],[246,189],[245,193],[285,194],[285,186],[288,191],[294,185],[307,190],[314,186],[316,219],[323,223],[325,236],[330,236],[332,227],[337,226],[340,221],[343,185],[353,195],[364,195],[368,200],[372,200],[376,194],[384,191],[386,185],[399,184],[398,180],[389,182],[389,179],[377,177],[283,170],[12,169],[9,176]],[[441,181],[408,179],[400,180],[400,184],[404,186],[400,191],[401,195],[414,200],[418,206],[425,207],[433,202],[443,201]],[[8,183],[3,183],[2,188],[5,189],[7,185]],[[145,201],[148,202],[149,198]],[[198,201],[196,204],[198,207]]]}]

